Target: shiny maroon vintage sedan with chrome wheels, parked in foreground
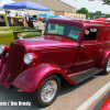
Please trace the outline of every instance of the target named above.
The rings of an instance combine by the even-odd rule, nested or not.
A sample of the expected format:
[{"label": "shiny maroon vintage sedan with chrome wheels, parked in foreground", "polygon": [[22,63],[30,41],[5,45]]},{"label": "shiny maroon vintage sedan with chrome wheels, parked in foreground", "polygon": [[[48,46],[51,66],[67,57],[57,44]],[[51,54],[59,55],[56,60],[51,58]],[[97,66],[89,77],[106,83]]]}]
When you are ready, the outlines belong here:
[{"label": "shiny maroon vintage sedan with chrome wheels, parked in foreground", "polygon": [[54,102],[61,79],[78,85],[110,73],[110,23],[51,19],[44,36],[0,45],[0,85],[33,92],[37,106]]}]

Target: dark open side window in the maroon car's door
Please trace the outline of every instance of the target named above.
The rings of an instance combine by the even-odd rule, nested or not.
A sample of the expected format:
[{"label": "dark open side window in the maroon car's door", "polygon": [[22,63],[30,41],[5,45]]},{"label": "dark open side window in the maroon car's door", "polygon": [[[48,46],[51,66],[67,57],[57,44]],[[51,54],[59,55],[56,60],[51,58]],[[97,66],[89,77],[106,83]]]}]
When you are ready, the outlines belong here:
[{"label": "dark open side window in the maroon car's door", "polygon": [[84,41],[96,41],[97,40],[98,30],[97,29],[86,29]]}]

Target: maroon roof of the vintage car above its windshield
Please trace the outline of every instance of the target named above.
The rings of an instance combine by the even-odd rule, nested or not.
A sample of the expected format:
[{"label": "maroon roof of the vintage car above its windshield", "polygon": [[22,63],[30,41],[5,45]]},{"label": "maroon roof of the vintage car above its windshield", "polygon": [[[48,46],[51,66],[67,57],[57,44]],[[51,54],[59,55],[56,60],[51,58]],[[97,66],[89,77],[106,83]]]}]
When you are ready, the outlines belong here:
[{"label": "maroon roof of the vintage car above its windshield", "polygon": [[87,19],[50,19],[48,22],[63,22],[66,24],[78,24],[82,26],[110,26],[109,22],[106,21],[95,21],[95,20],[87,20]]}]

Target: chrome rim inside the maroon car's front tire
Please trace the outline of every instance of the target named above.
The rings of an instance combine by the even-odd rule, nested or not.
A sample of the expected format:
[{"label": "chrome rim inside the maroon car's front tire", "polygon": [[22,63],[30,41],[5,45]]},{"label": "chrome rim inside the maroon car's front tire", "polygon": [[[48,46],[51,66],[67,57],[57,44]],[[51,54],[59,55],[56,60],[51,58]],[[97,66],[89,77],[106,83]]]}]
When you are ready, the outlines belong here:
[{"label": "chrome rim inside the maroon car's front tire", "polygon": [[55,80],[48,80],[42,89],[41,98],[44,102],[50,102],[56,95],[57,82]]}]

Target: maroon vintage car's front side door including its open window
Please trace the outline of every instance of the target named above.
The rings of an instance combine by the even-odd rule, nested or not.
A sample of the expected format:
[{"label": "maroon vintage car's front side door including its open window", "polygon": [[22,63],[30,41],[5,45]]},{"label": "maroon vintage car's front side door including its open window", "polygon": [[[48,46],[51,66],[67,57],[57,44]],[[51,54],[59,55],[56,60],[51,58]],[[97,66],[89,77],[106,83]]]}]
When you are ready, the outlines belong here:
[{"label": "maroon vintage car's front side door including its open window", "polygon": [[96,52],[98,48],[98,29],[86,29],[76,57],[74,69],[92,67],[95,65]]}]

